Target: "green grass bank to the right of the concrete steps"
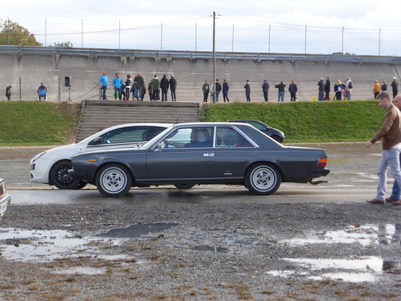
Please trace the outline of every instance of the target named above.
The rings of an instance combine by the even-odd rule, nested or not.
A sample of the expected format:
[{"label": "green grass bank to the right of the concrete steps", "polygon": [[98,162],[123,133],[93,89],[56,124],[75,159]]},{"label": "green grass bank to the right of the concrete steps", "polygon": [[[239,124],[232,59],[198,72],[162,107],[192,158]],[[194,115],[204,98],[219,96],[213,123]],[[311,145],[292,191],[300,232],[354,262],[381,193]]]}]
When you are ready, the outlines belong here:
[{"label": "green grass bank to the right of the concrete steps", "polygon": [[282,130],[285,142],[367,141],[385,111],[376,100],[208,104],[201,121],[260,120]]}]

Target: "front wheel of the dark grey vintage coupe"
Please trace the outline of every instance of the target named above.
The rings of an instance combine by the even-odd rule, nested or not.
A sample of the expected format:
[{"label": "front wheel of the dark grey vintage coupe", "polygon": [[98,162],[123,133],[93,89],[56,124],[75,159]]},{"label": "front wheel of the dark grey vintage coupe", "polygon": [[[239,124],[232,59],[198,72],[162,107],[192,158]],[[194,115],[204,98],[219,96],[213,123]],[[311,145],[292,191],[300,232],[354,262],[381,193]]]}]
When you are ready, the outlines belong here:
[{"label": "front wheel of the dark grey vintage coupe", "polygon": [[131,186],[131,173],[124,165],[107,164],[102,166],[96,174],[97,190],[104,196],[124,195],[130,190]]}]

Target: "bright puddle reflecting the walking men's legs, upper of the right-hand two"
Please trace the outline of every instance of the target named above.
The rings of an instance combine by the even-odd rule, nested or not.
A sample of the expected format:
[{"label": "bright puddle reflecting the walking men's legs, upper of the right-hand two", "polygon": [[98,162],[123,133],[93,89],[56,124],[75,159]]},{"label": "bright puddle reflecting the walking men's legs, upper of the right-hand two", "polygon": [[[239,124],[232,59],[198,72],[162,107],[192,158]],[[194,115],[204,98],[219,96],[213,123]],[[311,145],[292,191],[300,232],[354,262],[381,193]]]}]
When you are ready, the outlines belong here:
[{"label": "bright puddle reflecting the walking men's legs, upper of the right-hand two", "polygon": [[312,243],[360,243],[361,245],[370,244],[389,244],[400,243],[401,225],[365,225],[355,228],[349,226],[344,230],[327,231],[324,233],[310,234],[309,238],[295,238],[281,240],[279,243],[292,245],[306,245]]}]

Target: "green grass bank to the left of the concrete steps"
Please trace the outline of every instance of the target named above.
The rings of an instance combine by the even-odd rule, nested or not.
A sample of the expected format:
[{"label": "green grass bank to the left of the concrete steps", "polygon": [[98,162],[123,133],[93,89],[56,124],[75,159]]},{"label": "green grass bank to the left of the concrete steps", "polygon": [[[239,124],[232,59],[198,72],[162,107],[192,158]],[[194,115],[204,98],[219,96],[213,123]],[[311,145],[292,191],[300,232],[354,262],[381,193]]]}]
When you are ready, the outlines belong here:
[{"label": "green grass bank to the left of the concrete steps", "polygon": [[72,141],[79,103],[0,102],[0,146],[51,145]]}]

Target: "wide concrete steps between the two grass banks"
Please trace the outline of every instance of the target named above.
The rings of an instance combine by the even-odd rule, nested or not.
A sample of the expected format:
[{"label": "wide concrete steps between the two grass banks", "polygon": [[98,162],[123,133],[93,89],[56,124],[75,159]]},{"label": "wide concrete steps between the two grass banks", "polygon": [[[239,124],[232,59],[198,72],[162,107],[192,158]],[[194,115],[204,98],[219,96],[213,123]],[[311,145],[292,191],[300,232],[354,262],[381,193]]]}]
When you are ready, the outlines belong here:
[{"label": "wide concrete steps between the two grass banks", "polygon": [[123,123],[183,123],[199,121],[200,103],[84,100],[75,141]]}]

